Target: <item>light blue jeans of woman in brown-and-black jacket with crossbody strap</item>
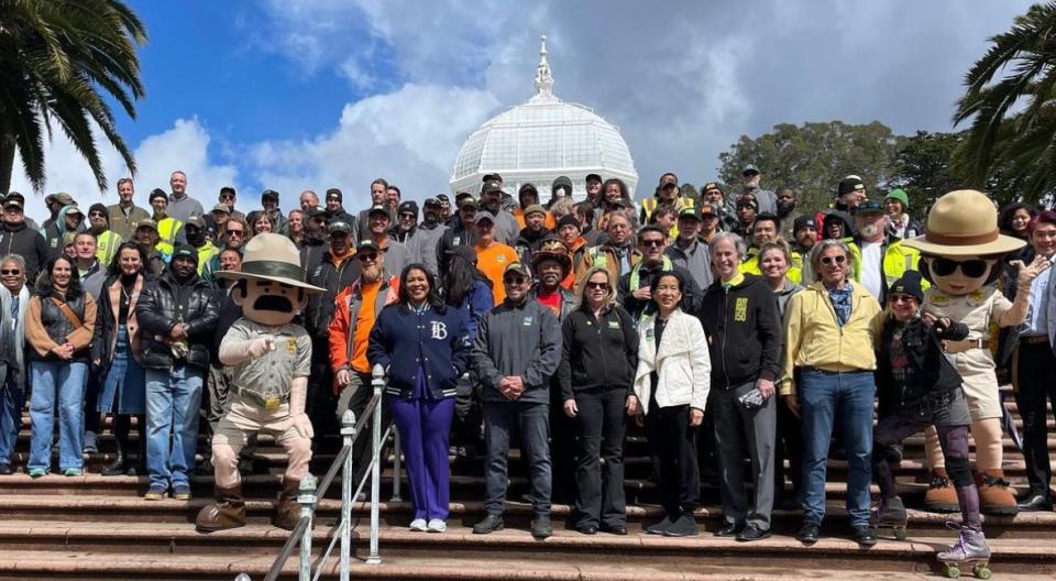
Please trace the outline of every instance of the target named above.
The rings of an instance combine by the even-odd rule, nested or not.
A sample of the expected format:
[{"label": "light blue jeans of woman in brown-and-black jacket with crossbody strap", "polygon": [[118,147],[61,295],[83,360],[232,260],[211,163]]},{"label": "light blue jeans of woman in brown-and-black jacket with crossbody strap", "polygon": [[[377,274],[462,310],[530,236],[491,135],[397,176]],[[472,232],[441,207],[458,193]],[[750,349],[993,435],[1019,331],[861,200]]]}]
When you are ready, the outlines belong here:
[{"label": "light blue jeans of woman in brown-and-black jacket with crossbody strap", "polygon": [[58,406],[58,468],[84,469],[85,386],[88,364],[69,361],[30,363],[33,394],[30,397],[29,469],[48,470],[52,465],[52,421]]}]

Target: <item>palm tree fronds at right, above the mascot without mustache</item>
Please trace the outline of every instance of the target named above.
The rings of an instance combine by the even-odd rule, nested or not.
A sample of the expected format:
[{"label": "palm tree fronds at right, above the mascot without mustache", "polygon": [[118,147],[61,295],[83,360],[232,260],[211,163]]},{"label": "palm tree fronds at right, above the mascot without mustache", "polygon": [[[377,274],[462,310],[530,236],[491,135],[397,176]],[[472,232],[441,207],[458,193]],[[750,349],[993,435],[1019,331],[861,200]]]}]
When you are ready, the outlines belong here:
[{"label": "palm tree fronds at right, above the mascot without mustache", "polygon": [[1056,187],[1056,2],[1031,7],[990,41],[954,114],[955,124],[971,119],[955,169],[975,184],[1018,175],[1022,196],[1037,200]]}]

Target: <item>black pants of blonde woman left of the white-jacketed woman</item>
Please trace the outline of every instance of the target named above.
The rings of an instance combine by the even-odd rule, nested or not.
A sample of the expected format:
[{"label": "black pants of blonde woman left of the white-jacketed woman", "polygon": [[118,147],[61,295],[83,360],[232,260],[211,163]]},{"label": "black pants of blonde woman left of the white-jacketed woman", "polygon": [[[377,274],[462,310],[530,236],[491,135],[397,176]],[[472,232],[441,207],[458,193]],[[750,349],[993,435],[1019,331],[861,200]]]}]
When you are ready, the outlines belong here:
[{"label": "black pants of blonde woman left of the white-jacketed woman", "polygon": [[[579,526],[627,524],[624,495],[624,435],[627,390],[597,387],[575,392],[575,518]],[[603,467],[600,460],[605,461]]]}]

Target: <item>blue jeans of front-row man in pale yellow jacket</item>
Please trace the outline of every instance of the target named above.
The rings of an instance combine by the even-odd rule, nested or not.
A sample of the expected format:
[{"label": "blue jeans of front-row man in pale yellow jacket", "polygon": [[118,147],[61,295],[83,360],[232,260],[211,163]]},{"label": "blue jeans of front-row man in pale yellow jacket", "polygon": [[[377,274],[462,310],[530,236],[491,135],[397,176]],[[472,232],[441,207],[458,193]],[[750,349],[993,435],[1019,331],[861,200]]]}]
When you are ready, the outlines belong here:
[{"label": "blue jeans of front-row man in pale yellow jacket", "polygon": [[833,425],[838,421],[847,452],[847,515],[851,526],[868,526],[872,404],[877,392],[872,372],[804,369],[799,386],[804,448],[803,522],[821,525],[825,517],[825,469]]}]

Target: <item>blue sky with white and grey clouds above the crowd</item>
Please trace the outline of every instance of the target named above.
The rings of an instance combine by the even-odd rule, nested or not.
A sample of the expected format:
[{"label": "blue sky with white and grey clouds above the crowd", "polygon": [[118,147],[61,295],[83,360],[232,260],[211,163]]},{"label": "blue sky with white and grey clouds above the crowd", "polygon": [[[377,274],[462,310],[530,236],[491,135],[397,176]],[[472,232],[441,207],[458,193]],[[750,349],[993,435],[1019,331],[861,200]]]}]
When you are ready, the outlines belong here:
[{"label": "blue sky with white and grey clouds above the crowd", "polygon": [[[965,72],[1031,2],[1019,0],[129,0],[150,40],[146,96],[118,129],[138,163],[136,204],[168,189],[211,207],[221,186],[254,209],[304,189],[369,200],[385,177],[406,199],[449,191],[459,149],[535,92],[547,35],[554,95],[617,125],[640,191],[667,171],[713,179],[718,154],[778,123],[880,121],[948,131]],[[100,143],[105,140],[99,135]],[[56,132],[43,194],[87,207],[128,175],[103,145],[108,191]],[[32,191],[15,162],[12,189]],[[766,168],[762,168],[766,174]],[[46,211],[31,198],[30,216]]]}]

